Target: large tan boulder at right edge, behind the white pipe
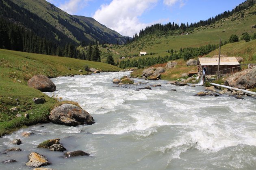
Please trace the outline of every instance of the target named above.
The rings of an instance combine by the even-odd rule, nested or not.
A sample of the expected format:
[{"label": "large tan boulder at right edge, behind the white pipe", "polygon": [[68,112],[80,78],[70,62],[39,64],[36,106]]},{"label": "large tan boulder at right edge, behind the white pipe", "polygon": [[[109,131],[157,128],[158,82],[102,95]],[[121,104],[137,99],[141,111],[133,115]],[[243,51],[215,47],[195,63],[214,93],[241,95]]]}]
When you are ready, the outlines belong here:
[{"label": "large tan boulder at right edge, behind the white pipe", "polygon": [[224,85],[239,89],[253,89],[256,87],[256,66],[229,76]]}]

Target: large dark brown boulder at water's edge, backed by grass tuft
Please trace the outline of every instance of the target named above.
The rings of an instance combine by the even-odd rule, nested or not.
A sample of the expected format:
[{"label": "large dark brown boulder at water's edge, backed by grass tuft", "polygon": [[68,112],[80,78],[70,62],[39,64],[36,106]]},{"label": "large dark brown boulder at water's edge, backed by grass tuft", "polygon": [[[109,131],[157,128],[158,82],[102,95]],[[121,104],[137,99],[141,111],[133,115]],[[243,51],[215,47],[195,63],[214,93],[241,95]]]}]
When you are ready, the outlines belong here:
[{"label": "large dark brown boulder at water's edge, backed by grass tuft", "polygon": [[93,117],[87,111],[74,104],[62,104],[54,108],[49,118],[53,123],[69,126],[94,123]]}]

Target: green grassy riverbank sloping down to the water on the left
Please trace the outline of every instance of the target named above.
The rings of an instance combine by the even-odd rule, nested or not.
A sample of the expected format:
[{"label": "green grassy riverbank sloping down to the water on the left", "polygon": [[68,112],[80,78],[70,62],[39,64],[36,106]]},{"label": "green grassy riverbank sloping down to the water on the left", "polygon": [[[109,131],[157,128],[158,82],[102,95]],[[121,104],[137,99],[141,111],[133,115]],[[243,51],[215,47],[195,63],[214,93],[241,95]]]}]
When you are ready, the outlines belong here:
[{"label": "green grassy riverbank sloping down to the water on the left", "polygon": [[[0,136],[26,125],[47,122],[50,110],[57,104],[53,98],[27,86],[31,77],[88,74],[85,65],[104,72],[120,70],[105,63],[0,49]],[[80,69],[83,72],[78,72]],[[46,102],[34,104],[35,97],[44,98]],[[16,110],[11,110],[15,107]]]}]

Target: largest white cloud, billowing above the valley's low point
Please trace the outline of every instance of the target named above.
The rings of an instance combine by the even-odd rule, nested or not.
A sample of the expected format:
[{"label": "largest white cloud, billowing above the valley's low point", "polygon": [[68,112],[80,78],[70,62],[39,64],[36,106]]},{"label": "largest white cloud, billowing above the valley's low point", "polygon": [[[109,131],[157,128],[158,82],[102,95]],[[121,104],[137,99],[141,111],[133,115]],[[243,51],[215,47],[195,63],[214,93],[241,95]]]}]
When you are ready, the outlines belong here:
[{"label": "largest white cloud, billowing above the valley's low point", "polygon": [[149,23],[141,23],[139,16],[158,0],[112,0],[103,4],[93,18],[124,36],[133,36]]}]

